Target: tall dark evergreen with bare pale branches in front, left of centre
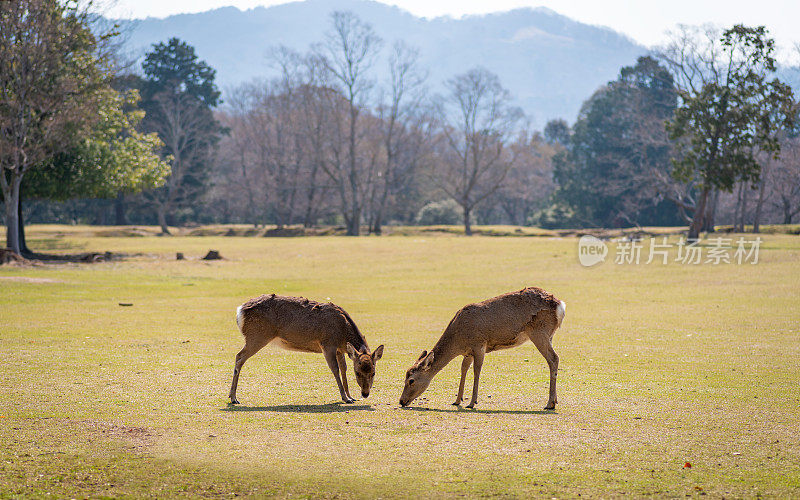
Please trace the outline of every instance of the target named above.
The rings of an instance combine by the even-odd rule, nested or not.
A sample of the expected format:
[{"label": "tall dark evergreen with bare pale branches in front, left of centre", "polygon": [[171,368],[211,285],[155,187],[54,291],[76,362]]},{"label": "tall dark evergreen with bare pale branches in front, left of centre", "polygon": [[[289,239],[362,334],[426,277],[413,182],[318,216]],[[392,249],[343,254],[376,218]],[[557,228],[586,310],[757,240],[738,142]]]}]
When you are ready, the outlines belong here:
[{"label": "tall dark evergreen with bare pale branches in front, left of centre", "polygon": [[223,132],[211,111],[220,101],[216,72],[198,60],[194,47],[177,38],[157,43],[142,63],[142,122],[164,142],[170,176],[146,197],[155,205],[162,234],[167,216],[189,207],[208,188],[214,148]]}]

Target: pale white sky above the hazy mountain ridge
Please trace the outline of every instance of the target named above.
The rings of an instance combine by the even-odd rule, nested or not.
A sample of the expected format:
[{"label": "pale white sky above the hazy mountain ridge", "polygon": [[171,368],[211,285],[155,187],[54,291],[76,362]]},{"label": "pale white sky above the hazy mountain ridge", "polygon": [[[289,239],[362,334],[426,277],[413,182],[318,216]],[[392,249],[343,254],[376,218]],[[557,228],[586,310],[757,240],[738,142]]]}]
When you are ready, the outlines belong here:
[{"label": "pale white sky above the hazy mountain ridge", "polygon": [[[165,17],[202,12],[229,5],[242,10],[287,3],[286,0],[109,0],[114,17]],[[787,50],[800,42],[799,0],[379,0],[420,17],[507,11],[518,7],[548,7],[577,21],[608,26],[639,43],[653,46],[667,30],[681,24],[735,23],[766,25]]]}]

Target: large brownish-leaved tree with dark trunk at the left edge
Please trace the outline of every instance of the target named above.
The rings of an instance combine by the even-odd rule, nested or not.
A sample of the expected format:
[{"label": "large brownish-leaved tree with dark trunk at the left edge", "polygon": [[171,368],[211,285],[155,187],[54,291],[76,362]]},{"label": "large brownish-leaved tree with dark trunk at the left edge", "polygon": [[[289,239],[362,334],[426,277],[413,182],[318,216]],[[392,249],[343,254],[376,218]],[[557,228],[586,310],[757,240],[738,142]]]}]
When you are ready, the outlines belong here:
[{"label": "large brownish-leaved tree with dark trunk at the left edge", "polygon": [[15,252],[23,177],[91,125],[88,109],[105,83],[96,45],[76,7],[0,2],[0,187],[6,244]]}]

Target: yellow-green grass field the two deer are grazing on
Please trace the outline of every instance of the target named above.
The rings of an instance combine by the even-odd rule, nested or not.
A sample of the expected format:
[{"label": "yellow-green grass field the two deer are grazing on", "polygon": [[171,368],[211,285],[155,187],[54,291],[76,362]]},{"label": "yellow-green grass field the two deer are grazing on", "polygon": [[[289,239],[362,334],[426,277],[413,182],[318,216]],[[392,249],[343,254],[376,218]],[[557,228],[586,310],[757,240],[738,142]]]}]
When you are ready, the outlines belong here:
[{"label": "yellow-green grass field the two deer are grazing on", "polygon": [[[764,236],[757,265],[584,268],[576,238],[98,231],[29,238],[132,256],[0,267],[0,497],[800,496],[800,237]],[[487,356],[474,411],[450,405],[458,361],[399,407],[456,310],[526,285],[567,303],[555,412],[530,343]],[[369,399],[267,348],[226,404],[235,309],[270,292],[386,344]]]}]

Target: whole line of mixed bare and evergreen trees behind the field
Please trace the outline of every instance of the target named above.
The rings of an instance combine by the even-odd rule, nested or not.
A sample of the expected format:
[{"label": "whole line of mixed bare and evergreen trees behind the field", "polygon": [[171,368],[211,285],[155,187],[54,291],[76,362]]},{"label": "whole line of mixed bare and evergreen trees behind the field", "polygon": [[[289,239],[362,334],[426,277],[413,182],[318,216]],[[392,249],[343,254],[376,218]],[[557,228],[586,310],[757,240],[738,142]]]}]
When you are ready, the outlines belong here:
[{"label": "whole line of mixed bare and evergreen trees behind the field", "polygon": [[[3,22],[13,10],[5,4]],[[539,132],[490,71],[469,69],[434,93],[415,48],[388,44],[351,12],[333,13],[306,52],[272,49],[277,76],[230,89],[224,103],[214,70],[185,42],[156,44],[138,72],[114,71],[113,57],[101,56],[113,53],[103,42],[113,33],[93,35],[85,14],[71,15],[92,40],[80,50],[95,58],[98,81],[127,117],[105,124],[105,141],[146,150],[146,161],[127,158],[150,174],[109,171],[112,181],[97,165],[103,158],[70,156],[69,141],[47,143],[23,169],[30,220],[157,223],[164,233],[190,223],[334,224],[350,235],[398,223],[460,223],[466,234],[475,223],[688,224],[694,238],[720,220],[758,230],[800,212],[798,107],[776,77],[763,27],[681,27],[598,89],[573,124],[553,120]],[[3,43],[22,51],[19,41]],[[374,76],[381,66],[385,79]],[[4,92],[14,71],[2,68]],[[13,112],[0,107],[3,140]],[[102,128],[88,114],[82,130]],[[7,151],[12,231],[13,213],[25,209],[6,189],[19,171]]]}]

